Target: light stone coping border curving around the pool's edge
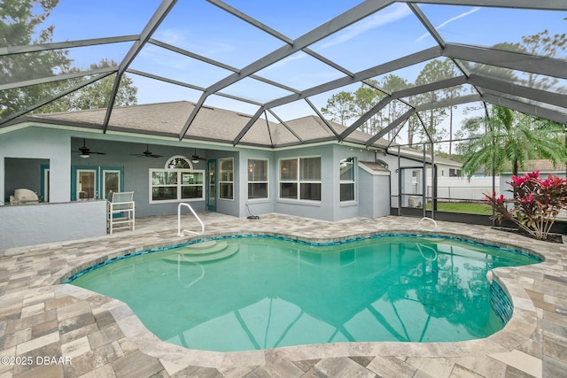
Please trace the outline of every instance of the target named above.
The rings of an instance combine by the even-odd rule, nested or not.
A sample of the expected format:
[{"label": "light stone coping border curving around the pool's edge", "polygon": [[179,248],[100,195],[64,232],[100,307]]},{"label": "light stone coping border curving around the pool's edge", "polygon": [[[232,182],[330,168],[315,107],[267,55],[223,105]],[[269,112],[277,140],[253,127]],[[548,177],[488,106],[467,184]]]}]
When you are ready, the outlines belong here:
[{"label": "light stone coping border curving around the pool's edge", "polygon": [[[289,238],[306,243],[340,243],[349,239],[370,237],[372,235],[441,235],[449,238],[467,240],[475,243],[485,243],[502,248],[514,249],[546,259],[547,253],[540,253],[531,248],[525,248],[516,243],[502,242],[474,235],[457,235],[450,232],[435,232],[427,230],[390,229],[388,231],[374,231],[333,238],[314,238],[301,235],[283,234],[276,232],[213,232],[204,235],[190,235],[164,243],[117,249],[98,258],[93,258],[81,266],[64,269],[50,277],[50,285],[55,285],[56,291],[62,294],[77,297],[89,302],[93,312],[110,312],[117,325],[128,340],[144,353],[160,359],[169,374],[175,374],[187,366],[206,366],[217,369],[230,369],[245,366],[263,366],[267,363],[267,356],[299,361],[306,359],[329,359],[339,357],[381,356],[381,357],[472,357],[480,355],[498,356],[501,353],[514,351],[518,346],[528,342],[537,328],[537,311],[532,299],[520,284],[514,272],[519,267],[500,267],[488,274],[488,279],[499,283],[501,289],[509,296],[514,312],[512,318],[504,328],[486,338],[447,343],[407,343],[407,342],[346,342],[346,343],[318,343],[299,346],[281,347],[259,351],[201,351],[184,348],[172,343],[159,340],[159,338],[145,328],[144,324],[128,305],[119,300],[105,297],[88,289],[75,287],[71,284],[61,284],[69,276],[82,271],[86,267],[101,263],[106,259],[124,256],[128,253],[149,249],[167,248],[173,245],[190,243],[195,240],[234,236],[234,235],[268,235]],[[546,261],[540,262],[546,264]],[[492,274],[491,274],[492,273]],[[537,373],[541,367],[534,367]],[[535,374],[534,376],[540,376]]]}]

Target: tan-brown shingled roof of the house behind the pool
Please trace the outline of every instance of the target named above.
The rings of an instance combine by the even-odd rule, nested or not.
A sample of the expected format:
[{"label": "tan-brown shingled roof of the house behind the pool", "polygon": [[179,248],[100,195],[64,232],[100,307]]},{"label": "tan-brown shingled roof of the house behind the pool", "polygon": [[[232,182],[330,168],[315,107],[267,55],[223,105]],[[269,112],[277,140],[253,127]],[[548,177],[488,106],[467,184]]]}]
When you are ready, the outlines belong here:
[{"label": "tan-brown shingled roof of the house behind the pool", "polygon": [[[195,104],[189,101],[117,107],[113,110],[108,130],[178,137],[194,107]],[[101,122],[105,119],[105,112],[106,109],[93,109],[79,112],[35,114],[27,117],[26,120],[74,127],[99,128]],[[238,133],[251,118],[252,115],[250,114],[203,106],[183,139],[233,143]],[[331,131],[330,127],[334,132]],[[325,142],[336,140],[335,133],[340,134],[345,129],[346,127],[335,122],[328,121],[325,123],[316,116],[290,120],[285,124],[259,118],[252,124],[239,144],[276,148]],[[371,135],[361,131],[354,131],[348,135],[345,141],[363,145],[370,137]],[[373,146],[384,148],[386,142],[378,140]]]}]

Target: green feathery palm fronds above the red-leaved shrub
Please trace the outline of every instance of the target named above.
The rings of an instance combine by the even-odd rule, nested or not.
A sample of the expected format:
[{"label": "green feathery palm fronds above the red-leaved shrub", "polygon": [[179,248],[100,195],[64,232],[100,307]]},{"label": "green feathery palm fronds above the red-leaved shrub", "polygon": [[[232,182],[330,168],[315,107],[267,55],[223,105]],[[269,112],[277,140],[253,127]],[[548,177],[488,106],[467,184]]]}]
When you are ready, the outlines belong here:
[{"label": "green feathery palm fronds above the red-leaved shrub", "polygon": [[485,128],[484,134],[466,145],[462,170],[469,176],[484,168],[497,174],[511,164],[512,174],[530,158],[547,158],[556,166],[567,160],[567,148],[556,137],[562,125],[493,106],[489,117],[468,120]]}]

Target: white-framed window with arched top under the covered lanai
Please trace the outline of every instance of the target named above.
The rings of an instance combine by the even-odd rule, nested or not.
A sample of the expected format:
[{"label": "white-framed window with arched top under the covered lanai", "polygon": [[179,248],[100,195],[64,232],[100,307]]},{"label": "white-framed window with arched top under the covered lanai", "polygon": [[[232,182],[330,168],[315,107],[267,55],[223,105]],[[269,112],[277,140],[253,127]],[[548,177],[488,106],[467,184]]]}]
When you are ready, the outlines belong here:
[{"label": "white-framed window with arched top under the covered lanai", "polygon": [[168,158],[164,169],[150,169],[150,203],[205,199],[205,171],[193,170],[183,156]]}]

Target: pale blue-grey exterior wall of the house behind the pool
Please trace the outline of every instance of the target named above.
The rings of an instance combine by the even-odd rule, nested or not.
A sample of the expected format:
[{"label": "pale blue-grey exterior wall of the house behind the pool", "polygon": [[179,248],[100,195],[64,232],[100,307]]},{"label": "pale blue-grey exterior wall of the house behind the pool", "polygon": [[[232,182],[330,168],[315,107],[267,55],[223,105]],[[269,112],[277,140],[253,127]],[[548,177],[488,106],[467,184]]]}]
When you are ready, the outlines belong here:
[{"label": "pale blue-grey exterior wall of the house behind the pool", "polygon": [[[89,158],[80,158],[77,149],[82,145],[82,137],[90,150],[105,152],[103,155],[91,154]],[[340,201],[340,161],[355,158],[356,161],[375,161],[376,153],[360,147],[342,143],[307,145],[278,150],[254,149],[245,146],[211,145],[196,143],[200,148],[188,148],[186,143],[167,141],[152,145],[151,139],[133,135],[92,135],[65,128],[25,127],[4,133],[0,138],[0,157],[34,158],[48,161],[50,165],[50,203],[70,202],[74,195],[72,167],[85,169],[98,167],[116,167],[122,172],[124,191],[133,191],[136,202],[136,216],[155,216],[175,214],[179,202],[151,203],[150,170],[163,169],[168,158],[181,155],[190,158],[198,154],[206,159],[216,159],[217,166],[221,158],[233,158],[234,192],[232,199],[217,198],[216,212],[237,217],[250,213],[260,215],[268,212],[282,212],[319,220],[346,220],[357,216],[382,216],[390,204],[390,192],[397,194],[397,180],[385,181],[370,179],[356,167],[355,198],[353,201]],[[159,158],[145,158],[139,155],[149,149],[161,155]],[[164,145],[167,144],[167,145]],[[177,145],[176,145],[177,144]],[[321,157],[321,200],[306,201],[279,197],[279,165],[282,158]],[[248,198],[248,159],[268,159],[268,198]],[[381,156],[379,158],[382,158]],[[397,169],[398,159],[386,156],[392,172]],[[411,160],[402,159],[402,166],[417,166]],[[193,164],[193,168],[206,172],[206,160]],[[4,191],[5,165],[0,165]],[[218,176],[217,176],[218,178]],[[97,193],[97,198],[104,198],[104,193]],[[185,202],[185,201],[183,201]],[[187,201],[198,212],[206,211],[206,201],[202,199]],[[248,212],[248,209],[250,212]],[[369,206],[369,207],[368,207]]]}]

